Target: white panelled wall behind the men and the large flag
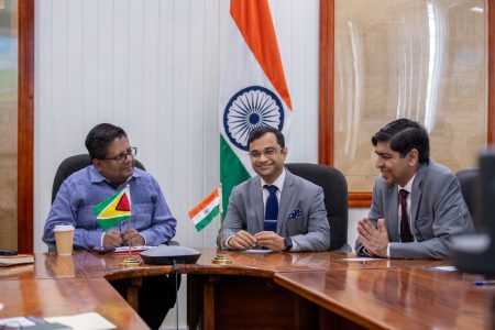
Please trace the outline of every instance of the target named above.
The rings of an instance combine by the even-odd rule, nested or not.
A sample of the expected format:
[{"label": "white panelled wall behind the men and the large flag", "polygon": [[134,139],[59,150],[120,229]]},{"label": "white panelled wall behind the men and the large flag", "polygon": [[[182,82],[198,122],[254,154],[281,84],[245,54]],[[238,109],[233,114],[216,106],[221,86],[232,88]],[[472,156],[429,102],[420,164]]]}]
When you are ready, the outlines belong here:
[{"label": "white panelled wall behind the men and the large flag", "polygon": [[[187,211],[219,179],[218,87],[229,1],[35,3],[35,251],[46,249],[41,237],[56,167],[86,152],[84,139],[100,122],[121,125],[138,146],[178,220],[176,240],[213,246],[218,223],[198,233]],[[316,163],[319,1],[270,4],[294,106],[288,162]],[[351,212],[352,240],[362,212]],[[170,327],[174,318],[170,311]]]}]

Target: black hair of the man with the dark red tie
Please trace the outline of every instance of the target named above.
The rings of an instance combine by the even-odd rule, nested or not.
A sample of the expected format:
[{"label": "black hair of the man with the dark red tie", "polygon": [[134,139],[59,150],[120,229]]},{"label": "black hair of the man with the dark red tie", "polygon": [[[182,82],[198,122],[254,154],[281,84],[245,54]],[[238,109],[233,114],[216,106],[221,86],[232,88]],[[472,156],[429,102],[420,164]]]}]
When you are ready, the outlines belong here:
[{"label": "black hair of the man with the dark red tie", "polygon": [[391,148],[405,157],[408,152],[416,148],[419,154],[419,163],[428,163],[430,160],[430,140],[426,129],[410,119],[397,119],[375,133],[372,138],[374,146],[378,142],[389,142]]}]

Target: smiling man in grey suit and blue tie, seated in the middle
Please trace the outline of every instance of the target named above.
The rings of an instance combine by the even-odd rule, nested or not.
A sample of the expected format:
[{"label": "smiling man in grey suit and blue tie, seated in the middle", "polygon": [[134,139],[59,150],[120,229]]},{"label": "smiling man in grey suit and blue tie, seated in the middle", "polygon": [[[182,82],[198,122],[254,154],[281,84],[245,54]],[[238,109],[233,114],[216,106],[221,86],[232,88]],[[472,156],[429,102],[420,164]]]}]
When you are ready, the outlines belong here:
[{"label": "smiling man in grey suit and blue tie, seated in the middle", "polygon": [[248,147],[258,176],[233,188],[217,244],[232,250],[328,250],[330,227],[323,190],[284,167],[284,135],[271,127],[256,128]]}]

